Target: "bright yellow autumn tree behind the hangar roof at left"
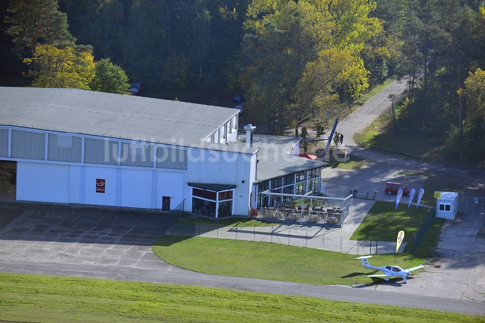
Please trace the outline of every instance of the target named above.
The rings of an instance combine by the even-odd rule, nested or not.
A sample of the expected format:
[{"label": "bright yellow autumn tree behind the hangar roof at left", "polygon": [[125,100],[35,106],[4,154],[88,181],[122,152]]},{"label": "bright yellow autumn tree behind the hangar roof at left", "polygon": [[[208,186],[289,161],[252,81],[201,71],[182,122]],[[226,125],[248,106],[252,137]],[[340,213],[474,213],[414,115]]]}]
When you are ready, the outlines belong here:
[{"label": "bright yellow autumn tree behind the hangar roof at left", "polygon": [[33,57],[24,59],[24,63],[35,66],[27,73],[34,77],[32,86],[35,87],[89,90],[89,83],[95,76],[93,55],[89,51],[76,52],[70,47],[39,45]]}]

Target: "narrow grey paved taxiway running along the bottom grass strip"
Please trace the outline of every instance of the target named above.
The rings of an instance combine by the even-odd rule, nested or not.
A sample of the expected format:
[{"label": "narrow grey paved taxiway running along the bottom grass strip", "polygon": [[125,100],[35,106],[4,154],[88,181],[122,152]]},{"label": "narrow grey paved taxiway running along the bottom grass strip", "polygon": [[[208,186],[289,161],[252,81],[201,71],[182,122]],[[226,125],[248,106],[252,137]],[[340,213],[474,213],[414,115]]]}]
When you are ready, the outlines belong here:
[{"label": "narrow grey paved taxiway running along the bottom grass strip", "polygon": [[402,289],[401,292],[396,293],[389,291],[372,291],[351,288],[350,286],[309,285],[256,278],[206,275],[177,267],[169,267],[166,270],[153,270],[127,267],[113,268],[89,265],[1,261],[0,271],[42,275],[109,278],[179,285],[197,285],[240,291],[259,291],[275,294],[311,296],[331,300],[406,306],[473,315],[485,315],[485,307],[481,302],[457,301],[446,298],[411,295],[406,294],[404,289]]}]

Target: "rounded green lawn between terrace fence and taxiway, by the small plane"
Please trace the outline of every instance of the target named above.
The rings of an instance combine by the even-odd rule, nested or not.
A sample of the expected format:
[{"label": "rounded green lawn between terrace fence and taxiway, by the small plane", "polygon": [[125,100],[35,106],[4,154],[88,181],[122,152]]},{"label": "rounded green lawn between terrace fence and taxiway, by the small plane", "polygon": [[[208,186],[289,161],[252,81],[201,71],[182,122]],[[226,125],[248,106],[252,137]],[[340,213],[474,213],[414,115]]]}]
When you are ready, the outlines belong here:
[{"label": "rounded green lawn between terrace fence and taxiway, by the small plane", "polygon": [[[354,255],[278,243],[162,235],[152,249],[172,265],[206,274],[308,284],[352,285],[373,281],[362,275],[372,271],[363,268]],[[395,263],[394,254],[376,255],[372,259],[375,266]],[[403,268],[422,261],[412,254],[398,255],[397,259]]]}]

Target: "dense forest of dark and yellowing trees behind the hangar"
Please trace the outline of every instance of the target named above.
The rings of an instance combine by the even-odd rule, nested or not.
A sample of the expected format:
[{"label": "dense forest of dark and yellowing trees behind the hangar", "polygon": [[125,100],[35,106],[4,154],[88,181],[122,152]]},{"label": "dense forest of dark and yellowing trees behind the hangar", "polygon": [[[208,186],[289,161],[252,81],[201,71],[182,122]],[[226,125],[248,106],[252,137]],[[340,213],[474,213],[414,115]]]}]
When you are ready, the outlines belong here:
[{"label": "dense forest of dark and yellowing trees behind the hangar", "polygon": [[[401,124],[485,158],[485,9],[478,0],[11,0],[2,85],[243,93],[271,133],[339,113],[392,75]],[[20,78],[20,75],[23,75]]]}]

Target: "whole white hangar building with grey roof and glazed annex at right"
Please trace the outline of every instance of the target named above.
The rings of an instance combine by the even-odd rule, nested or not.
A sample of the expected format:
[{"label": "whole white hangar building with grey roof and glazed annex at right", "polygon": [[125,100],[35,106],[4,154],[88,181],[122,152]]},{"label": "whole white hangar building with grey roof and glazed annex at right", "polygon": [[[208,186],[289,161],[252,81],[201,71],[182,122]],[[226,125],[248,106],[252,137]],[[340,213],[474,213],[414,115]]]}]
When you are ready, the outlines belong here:
[{"label": "whole white hangar building with grey roof and glazed annex at right", "polygon": [[16,176],[0,184],[19,201],[146,209],[184,202],[186,211],[210,217],[247,215],[261,191],[319,191],[326,163],[294,156],[299,138],[251,131],[238,138],[238,113],[77,89],[0,87],[0,171]]}]

